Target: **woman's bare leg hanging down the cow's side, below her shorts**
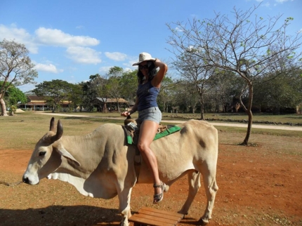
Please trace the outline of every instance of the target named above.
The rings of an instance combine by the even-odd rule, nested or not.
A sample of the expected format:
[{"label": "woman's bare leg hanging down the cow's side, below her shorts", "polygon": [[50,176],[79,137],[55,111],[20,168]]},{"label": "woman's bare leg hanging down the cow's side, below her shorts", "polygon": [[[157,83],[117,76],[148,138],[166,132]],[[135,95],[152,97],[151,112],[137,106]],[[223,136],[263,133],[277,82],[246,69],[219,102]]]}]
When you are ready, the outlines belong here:
[{"label": "woman's bare leg hanging down the cow's side, below her shorts", "polygon": [[[159,125],[154,121],[143,121],[143,123],[140,125],[138,149],[140,150],[140,154],[142,154],[142,157],[145,163],[147,164],[148,168],[152,172],[153,182],[157,185],[160,185],[161,181],[159,180],[157,159],[155,157],[155,154],[150,149],[150,144],[155,138],[158,126]],[[160,193],[162,193],[162,188],[155,187],[155,194]]]}]

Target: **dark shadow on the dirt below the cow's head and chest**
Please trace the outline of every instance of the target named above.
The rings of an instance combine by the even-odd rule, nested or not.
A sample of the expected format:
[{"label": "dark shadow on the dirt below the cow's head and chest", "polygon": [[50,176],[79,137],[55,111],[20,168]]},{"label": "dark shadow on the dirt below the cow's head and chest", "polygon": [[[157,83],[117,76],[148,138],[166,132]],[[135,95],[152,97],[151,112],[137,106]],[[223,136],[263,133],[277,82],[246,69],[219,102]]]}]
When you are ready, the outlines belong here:
[{"label": "dark shadow on the dirt below the cow's head and chest", "polygon": [[121,219],[117,209],[96,206],[48,206],[0,211],[1,226],[12,226],[17,222],[22,222],[22,225],[49,226],[119,225]]}]

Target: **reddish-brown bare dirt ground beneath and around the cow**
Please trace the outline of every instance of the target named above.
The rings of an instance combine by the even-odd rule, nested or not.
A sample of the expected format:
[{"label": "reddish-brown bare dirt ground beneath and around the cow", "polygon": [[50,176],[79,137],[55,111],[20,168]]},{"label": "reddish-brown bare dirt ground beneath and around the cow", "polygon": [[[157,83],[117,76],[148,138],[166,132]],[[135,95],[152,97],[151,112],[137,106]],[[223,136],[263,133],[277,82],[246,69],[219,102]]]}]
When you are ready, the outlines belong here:
[{"label": "reddish-brown bare dirt ground beneath and around the cow", "polygon": [[[272,137],[276,139],[277,137]],[[282,144],[301,138],[277,138]],[[292,139],[292,140],[290,140]],[[22,178],[32,150],[0,151],[0,225],[118,225],[117,197],[110,200],[84,197],[66,182],[41,180],[39,185]],[[302,156],[270,145],[242,147],[219,145],[218,193],[209,225],[302,225]],[[11,186],[5,185],[8,182]],[[181,178],[152,205],[152,185],[136,185],[131,195],[131,211],[150,206],[177,212],[188,194],[188,181]],[[190,212],[179,225],[196,225],[206,197],[203,187]]]}]

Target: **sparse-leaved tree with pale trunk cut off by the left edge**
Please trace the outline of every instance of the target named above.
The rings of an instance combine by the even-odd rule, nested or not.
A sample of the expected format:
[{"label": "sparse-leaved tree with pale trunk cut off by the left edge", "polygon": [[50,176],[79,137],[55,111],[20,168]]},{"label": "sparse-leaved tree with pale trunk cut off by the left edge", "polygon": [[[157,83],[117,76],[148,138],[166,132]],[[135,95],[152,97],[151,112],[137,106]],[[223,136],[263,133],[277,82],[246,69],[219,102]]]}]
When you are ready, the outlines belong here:
[{"label": "sparse-leaved tree with pale trunk cut off by the left edge", "polygon": [[3,81],[0,86],[1,116],[8,116],[4,101],[8,88],[34,83],[34,78],[38,77],[28,53],[24,44],[6,39],[0,41],[0,81]]}]

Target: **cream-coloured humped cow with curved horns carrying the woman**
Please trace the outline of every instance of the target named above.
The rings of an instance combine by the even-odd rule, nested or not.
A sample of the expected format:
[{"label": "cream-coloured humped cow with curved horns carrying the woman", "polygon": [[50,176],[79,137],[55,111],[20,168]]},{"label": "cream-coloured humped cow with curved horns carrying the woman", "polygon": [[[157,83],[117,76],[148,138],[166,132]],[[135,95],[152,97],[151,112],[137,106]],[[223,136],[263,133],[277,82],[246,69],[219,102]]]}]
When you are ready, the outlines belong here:
[{"label": "cream-coloured humped cow with curved horns carrying the woman", "polygon": [[[218,133],[206,121],[190,120],[181,127],[180,132],[152,142],[151,149],[157,157],[160,179],[167,188],[188,174],[189,194],[179,213],[188,213],[201,187],[200,175],[203,176],[207,204],[200,224],[206,224],[211,219],[218,190]],[[22,180],[37,185],[51,174],[53,179],[69,182],[86,196],[111,199],[118,195],[121,225],[129,225],[133,186],[136,182],[153,182],[144,162],[137,178],[135,156],[135,147],[126,143],[122,126],[104,124],[87,135],[63,136],[60,120],[55,131],[53,118],[50,131],[37,142]]]}]

